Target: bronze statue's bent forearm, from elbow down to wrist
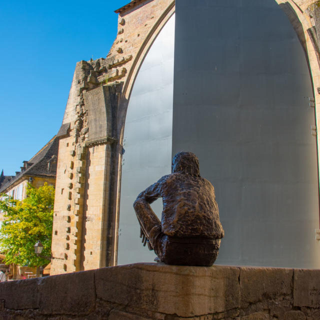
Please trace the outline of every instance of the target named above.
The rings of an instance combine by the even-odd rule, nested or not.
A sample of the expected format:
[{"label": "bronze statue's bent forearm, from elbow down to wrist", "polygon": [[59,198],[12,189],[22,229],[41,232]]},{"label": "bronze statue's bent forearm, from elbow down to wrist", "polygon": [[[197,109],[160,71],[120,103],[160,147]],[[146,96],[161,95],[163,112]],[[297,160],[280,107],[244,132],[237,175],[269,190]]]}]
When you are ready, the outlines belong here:
[{"label": "bronze statue's bent forearm, from elbow down to wrist", "polygon": [[[158,247],[157,242],[160,240],[160,234],[162,233],[160,220],[153,212],[150,204],[144,199],[136,199],[133,207],[144,235],[148,238],[152,248],[155,249]],[[155,253],[157,253],[156,251],[155,249]]]}]

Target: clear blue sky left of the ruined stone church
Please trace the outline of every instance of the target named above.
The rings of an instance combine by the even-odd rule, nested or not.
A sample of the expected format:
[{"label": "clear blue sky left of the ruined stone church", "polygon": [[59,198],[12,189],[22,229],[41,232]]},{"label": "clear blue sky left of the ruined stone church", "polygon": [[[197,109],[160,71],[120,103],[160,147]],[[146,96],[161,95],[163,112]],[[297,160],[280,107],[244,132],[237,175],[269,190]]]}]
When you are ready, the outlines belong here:
[{"label": "clear blue sky left of the ruined stone church", "polygon": [[59,129],[75,63],[105,57],[130,0],[1,1],[0,170],[14,175]]}]

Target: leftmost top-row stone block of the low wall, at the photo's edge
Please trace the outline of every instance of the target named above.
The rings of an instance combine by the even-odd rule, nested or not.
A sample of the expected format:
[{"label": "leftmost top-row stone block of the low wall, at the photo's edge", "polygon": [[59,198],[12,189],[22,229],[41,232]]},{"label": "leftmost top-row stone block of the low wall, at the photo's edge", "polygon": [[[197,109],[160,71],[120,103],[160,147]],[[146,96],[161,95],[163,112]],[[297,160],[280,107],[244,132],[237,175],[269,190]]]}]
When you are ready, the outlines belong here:
[{"label": "leftmost top-row stone block of the low wall, at the photo's edge", "polygon": [[38,308],[37,278],[0,283],[0,300],[7,309]]}]

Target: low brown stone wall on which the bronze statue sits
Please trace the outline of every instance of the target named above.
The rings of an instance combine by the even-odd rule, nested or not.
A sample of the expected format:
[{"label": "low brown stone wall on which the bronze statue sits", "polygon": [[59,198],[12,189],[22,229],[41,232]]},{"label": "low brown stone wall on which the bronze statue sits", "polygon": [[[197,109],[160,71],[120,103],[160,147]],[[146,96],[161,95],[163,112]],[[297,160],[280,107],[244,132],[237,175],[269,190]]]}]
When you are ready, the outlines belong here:
[{"label": "low brown stone wall on which the bronze statue sits", "polygon": [[320,270],[136,263],[0,283],[1,319],[318,320]]}]

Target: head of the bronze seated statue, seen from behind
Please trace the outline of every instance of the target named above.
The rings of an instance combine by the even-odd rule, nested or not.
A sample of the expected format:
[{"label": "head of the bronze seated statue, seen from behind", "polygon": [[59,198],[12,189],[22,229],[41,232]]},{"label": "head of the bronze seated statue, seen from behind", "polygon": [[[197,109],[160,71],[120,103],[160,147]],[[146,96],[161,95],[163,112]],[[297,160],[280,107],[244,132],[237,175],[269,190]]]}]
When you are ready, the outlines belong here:
[{"label": "head of the bronze seated statue, seen from behind", "polygon": [[192,152],[178,152],[173,156],[171,172],[181,172],[200,176],[199,160]]}]

